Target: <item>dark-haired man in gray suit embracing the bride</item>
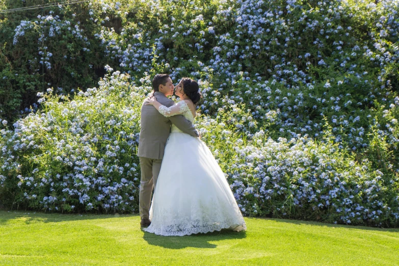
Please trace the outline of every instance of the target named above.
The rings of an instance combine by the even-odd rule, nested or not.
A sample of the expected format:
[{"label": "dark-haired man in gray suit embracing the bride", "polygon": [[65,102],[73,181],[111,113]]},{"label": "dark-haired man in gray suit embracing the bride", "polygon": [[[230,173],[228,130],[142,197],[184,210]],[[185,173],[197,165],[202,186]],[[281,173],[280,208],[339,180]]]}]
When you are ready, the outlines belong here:
[{"label": "dark-haired man in gray suit embracing the bride", "polygon": [[[173,100],[167,98],[167,96],[173,95],[174,87],[172,79],[168,74],[156,74],[152,79],[154,97],[166,107],[171,107],[175,104]],[[151,224],[149,209],[152,189],[155,187],[159,170],[161,170],[166,140],[169,137],[172,123],[184,133],[199,137],[199,133],[193,124],[182,115],[165,117],[152,105],[146,105],[143,102],[141,107],[139,150],[137,152],[137,155],[140,157],[141,168],[139,196],[141,227]]]}]

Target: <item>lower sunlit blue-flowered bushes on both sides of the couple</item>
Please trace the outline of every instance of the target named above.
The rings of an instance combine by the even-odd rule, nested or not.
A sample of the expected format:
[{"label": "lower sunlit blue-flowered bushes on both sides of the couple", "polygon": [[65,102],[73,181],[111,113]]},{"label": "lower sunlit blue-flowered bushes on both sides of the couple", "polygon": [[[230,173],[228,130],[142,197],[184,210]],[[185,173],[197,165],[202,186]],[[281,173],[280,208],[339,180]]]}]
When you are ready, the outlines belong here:
[{"label": "lower sunlit blue-flowered bushes on both sides of the couple", "polygon": [[[43,112],[1,132],[2,201],[44,210],[137,211],[139,114],[151,87],[128,81],[114,72],[73,100],[51,89],[39,93]],[[384,177],[366,160],[356,162],[331,133],[324,143],[308,135],[276,142],[263,130],[243,135],[229,121],[249,116],[235,104],[215,119],[196,120],[244,214],[397,224],[397,177]]]}]

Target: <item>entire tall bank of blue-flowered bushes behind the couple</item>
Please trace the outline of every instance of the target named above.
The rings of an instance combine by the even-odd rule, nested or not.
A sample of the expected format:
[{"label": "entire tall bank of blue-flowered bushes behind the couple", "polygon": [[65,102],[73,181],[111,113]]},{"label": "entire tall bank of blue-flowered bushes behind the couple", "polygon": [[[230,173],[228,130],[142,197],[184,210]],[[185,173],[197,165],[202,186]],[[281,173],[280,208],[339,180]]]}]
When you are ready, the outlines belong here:
[{"label": "entire tall bank of blue-flowered bushes behind the couple", "polygon": [[[153,74],[168,72],[199,81],[196,126],[244,214],[399,225],[397,1],[83,7],[20,19],[6,46],[32,43],[33,69],[63,85],[13,130],[2,121],[5,206],[137,211],[140,105]],[[92,88],[101,64],[117,71]],[[0,63],[7,86],[23,86],[14,72]]]}]

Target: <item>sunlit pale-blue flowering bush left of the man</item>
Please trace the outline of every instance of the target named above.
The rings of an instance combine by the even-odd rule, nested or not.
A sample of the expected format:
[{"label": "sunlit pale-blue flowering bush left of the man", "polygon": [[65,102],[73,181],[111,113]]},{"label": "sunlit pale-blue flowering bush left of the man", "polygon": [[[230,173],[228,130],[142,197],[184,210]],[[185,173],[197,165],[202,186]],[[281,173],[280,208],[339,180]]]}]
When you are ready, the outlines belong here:
[{"label": "sunlit pale-blue flowering bush left of the man", "polygon": [[2,179],[3,200],[18,192],[13,201],[47,210],[137,210],[144,94],[129,91],[119,72],[99,84],[74,100],[39,93],[43,112],[2,130],[2,172],[15,173]]}]

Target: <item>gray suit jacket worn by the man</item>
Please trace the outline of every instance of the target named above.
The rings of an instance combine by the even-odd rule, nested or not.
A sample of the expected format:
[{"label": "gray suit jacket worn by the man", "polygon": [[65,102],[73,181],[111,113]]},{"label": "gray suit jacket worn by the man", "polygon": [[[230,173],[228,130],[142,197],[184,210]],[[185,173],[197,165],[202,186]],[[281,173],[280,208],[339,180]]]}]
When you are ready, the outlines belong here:
[{"label": "gray suit jacket worn by the man", "polygon": [[[162,92],[155,92],[156,100],[171,107],[175,102],[165,96]],[[152,159],[164,157],[166,140],[170,134],[172,123],[181,131],[193,137],[199,137],[193,124],[182,115],[165,117],[161,115],[152,105],[143,102],[141,107],[141,130],[139,139],[139,150],[137,156]]]}]

